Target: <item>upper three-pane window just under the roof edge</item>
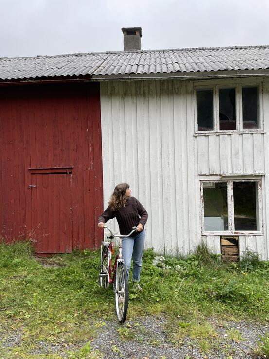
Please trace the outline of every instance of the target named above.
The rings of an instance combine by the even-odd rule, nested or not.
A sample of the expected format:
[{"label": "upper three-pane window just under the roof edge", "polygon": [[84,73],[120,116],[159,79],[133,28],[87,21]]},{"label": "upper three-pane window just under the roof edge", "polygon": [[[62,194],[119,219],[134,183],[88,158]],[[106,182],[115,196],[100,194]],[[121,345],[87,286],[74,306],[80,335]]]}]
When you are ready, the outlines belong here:
[{"label": "upper three-pane window just under the roof edge", "polygon": [[196,88],[197,132],[261,129],[260,85],[214,85]]}]

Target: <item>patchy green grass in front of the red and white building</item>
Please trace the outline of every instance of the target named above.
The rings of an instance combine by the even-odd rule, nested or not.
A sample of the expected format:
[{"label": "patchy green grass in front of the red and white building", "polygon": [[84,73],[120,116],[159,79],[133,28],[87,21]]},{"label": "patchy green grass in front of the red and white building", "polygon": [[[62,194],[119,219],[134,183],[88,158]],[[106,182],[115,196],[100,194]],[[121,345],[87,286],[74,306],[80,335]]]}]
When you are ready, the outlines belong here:
[{"label": "patchy green grass in front of the red and white building", "polygon": [[[0,242],[1,358],[43,358],[35,353],[45,353],[46,346],[54,347],[49,359],[68,358],[68,352],[69,358],[101,357],[87,343],[115,314],[113,291],[99,287],[99,260],[99,252],[85,250],[40,261],[31,241]],[[164,313],[170,318],[168,336],[179,344],[189,336],[202,352],[218,340],[207,317],[264,321],[269,313],[269,263],[253,253],[225,264],[205,246],[185,258],[147,250],[141,286],[143,292],[130,289],[128,320]],[[122,328],[123,340],[140,337],[139,328]],[[12,335],[19,340],[9,347]],[[229,336],[241,340],[240,333]]]}]

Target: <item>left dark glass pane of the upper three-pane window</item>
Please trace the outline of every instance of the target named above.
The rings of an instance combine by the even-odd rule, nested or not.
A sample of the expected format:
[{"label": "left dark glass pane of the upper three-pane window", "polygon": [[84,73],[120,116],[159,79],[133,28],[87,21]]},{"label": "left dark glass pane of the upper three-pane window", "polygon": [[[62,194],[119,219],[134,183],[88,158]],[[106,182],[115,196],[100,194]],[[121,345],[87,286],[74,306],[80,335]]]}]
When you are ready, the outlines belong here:
[{"label": "left dark glass pane of the upper three-pane window", "polygon": [[198,131],[213,130],[213,90],[196,92]]}]

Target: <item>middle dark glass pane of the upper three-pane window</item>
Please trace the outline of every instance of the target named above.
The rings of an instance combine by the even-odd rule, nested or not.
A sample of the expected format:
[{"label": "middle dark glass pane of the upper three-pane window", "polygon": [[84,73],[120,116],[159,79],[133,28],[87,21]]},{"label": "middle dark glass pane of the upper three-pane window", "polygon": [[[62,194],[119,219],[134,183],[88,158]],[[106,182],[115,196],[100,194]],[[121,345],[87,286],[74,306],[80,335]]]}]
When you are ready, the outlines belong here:
[{"label": "middle dark glass pane of the upper three-pane window", "polygon": [[235,89],[220,89],[219,129],[236,130]]}]

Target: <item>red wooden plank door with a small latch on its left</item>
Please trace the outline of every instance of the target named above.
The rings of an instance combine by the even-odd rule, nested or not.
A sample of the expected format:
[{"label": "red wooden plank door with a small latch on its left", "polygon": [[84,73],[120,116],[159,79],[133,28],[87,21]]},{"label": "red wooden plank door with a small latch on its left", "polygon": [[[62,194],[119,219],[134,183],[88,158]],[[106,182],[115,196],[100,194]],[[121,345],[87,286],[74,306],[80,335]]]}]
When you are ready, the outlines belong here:
[{"label": "red wooden plank door with a small latch on its left", "polygon": [[32,173],[29,189],[36,252],[72,252],[71,173]]}]

